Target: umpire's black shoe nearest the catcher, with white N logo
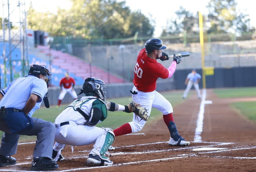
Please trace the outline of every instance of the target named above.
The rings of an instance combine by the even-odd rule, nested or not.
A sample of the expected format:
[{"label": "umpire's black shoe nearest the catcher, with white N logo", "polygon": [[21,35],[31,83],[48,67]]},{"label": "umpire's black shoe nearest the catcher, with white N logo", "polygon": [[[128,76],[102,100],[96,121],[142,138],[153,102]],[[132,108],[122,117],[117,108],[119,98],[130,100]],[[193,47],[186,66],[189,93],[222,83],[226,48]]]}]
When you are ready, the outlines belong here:
[{"label": "umpire's black shoe nearest the catcher, with white N logo", "polygon": [[34,158],[30,170],[33,171],[46,171],[46,170],[56,170],[59,165],[56,161],[52,161],[47,157],[36,157]]}]

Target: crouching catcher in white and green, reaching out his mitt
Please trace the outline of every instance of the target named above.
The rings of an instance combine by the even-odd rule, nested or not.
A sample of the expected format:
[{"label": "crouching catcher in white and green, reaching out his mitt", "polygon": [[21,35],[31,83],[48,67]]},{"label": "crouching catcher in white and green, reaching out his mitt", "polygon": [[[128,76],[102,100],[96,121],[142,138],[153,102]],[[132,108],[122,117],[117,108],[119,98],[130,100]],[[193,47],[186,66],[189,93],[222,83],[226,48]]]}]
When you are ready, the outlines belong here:
[{"label": "crouching catcher in white and green, reaching out his mitt", "polygon": [[109,146],[115,140],[115,134],[110,128],[99,128],[95,125],[104,121],[107,117],[107,110],[124,112],[136,112],[142,118],[148,120],[147,111],[136,102],[126,106],[113,102],[106,102],[106,84],[98,78],[87,78],[83,89],[78,94],[85,96],[74,100],[61,112],[54,124],[56,127],[55,144],[52,158],[55,161],[63,160],[61,150],[66,145],[83,146],[94,143],[86,162],[88,165],[112,165],[109,157],[104,156]]}]

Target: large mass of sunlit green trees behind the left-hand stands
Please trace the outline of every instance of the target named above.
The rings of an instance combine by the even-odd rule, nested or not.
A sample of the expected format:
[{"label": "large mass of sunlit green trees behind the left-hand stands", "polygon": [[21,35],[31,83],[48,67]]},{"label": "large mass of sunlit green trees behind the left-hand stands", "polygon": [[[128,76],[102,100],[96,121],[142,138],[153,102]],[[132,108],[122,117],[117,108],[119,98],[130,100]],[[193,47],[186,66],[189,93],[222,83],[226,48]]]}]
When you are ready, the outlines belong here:
[{"label": "large mass of sunlit green trees behind the left-hand stands", "polygon": [[28,11],[28,27],[49,32],[52,36],[85,39],[113,39],[141,35],[151,36],[154,27],[140,11],[131,12],[125,1],[71,0],[70,9],[58,9],[57,15]]}]

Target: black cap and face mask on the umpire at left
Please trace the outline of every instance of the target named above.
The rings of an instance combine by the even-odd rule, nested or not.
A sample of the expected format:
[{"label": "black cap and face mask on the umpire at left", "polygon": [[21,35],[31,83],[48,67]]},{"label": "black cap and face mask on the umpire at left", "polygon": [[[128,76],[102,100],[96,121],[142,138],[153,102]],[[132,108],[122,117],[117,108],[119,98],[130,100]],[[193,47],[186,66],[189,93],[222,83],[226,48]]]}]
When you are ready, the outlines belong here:
[{"label": "black cap and face mask on the umpire at left", "polygon": [[50,85],[50,81],[51,81],[51,73],[49,71],[49,69],[46,69],[46,67],[44,65],[31,65],[29,66],[29,75],[33,75],[33,76],[39,76],[40,74],[47,76],[47,78],[45,79],[45,82],[47,83],[47,88]]}]

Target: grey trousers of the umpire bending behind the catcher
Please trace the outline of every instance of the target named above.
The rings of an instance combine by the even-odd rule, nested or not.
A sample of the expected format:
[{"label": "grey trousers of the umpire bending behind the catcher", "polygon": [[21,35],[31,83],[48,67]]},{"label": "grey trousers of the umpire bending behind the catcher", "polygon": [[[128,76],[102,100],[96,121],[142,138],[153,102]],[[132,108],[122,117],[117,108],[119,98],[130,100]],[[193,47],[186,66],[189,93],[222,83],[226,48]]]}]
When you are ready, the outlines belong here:
[{"label": "grey trousers of the umpire bending behind the catcher", "polygon": [[32,129],[19,133],[10,133],[4,121],[0,121],[0,130],[4,131],[0,147],[0,155],[11,156],[17,153],[20,135],[37,136],[33,157],[52,158],[52,150],[55,137],[55,126],[52,122],[39,118],[33,118]]}]

